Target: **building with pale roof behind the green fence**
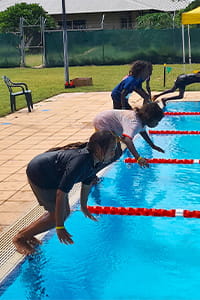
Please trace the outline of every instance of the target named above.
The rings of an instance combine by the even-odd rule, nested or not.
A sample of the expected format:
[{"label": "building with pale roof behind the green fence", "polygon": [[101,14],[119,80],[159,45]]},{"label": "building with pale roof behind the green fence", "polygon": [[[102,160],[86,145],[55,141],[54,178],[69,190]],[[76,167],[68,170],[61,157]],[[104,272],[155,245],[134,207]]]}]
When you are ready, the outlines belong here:
[{"label": "building with pale roof behind the green fence", "polygon": [[[0,0],[0,11],[17,3],[37,3],[62,25],[62,0]],[[132,29],[136,17],[150,12],[176,12],[191,0],[65,0],[68,30]]]}]

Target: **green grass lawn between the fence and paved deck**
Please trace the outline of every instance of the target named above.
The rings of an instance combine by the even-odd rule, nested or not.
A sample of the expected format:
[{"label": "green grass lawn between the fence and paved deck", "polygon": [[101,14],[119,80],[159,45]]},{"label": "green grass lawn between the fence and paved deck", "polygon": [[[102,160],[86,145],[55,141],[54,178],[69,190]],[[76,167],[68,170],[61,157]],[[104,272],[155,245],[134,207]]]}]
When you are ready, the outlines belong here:
[{"label": "green grass lawn between the fence and paved deck", "polygon": [[[152,91],[162,91],[170,88],[179,74],[191,73],[193,70],[200,68],[197,64],[168,66],[172,67],[172,70],[166,75],[165,87],[163,86],[163,65],[153,66]],[[92,77],[93,79],[93,86],[76,87],[75,89],[64,88],[64,68],[1,68],[0,75],[6,75],[14,82],[26,82],[32,90],[33,102],[36,103],[60,93],[111,91],[128,71],[129,65],[70,67],[70,79],[75,77]],[[200,90],[200,85],[193,84],[187,87],[187,90]],[[0,99],[0,116],[4,116],[10,113],[10,101],[9,92],[3,80],[0,84]],[[17,109],[25,106],[24,96],[18,96]]]}]

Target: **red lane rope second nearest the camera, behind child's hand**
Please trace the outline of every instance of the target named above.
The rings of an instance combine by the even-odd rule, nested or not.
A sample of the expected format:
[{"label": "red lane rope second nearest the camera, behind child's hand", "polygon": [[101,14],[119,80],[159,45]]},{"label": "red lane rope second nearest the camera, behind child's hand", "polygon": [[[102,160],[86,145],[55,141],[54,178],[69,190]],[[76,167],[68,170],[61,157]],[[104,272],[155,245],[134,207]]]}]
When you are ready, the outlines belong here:
[{"label": "red lane rope second nearest the camera, behind child's hand", "polygon": [[[127,157],[124,159],[125,163],[137,163],[137,160],[132,157]],[[152,164],[199,164],[199,159],[175,159],[175,158],[149,158],[148,163]]]}]

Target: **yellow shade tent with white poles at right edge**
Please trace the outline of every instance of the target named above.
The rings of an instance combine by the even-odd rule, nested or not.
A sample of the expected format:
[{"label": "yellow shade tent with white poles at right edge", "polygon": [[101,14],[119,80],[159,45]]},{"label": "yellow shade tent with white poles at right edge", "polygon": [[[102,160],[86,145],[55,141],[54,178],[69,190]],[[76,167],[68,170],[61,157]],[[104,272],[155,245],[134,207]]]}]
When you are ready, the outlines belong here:
[{"label": "yellow shade tent with white poles at right edge", "polygon": [[183,63],[185,63],[185,37],[184,25],[188,26],[188,48],[189,48],[189,63],[191,64],[191,42],[190,42],[190,24],[200,24],[200,6],[182,13],[182,43],[183,43]]}]

